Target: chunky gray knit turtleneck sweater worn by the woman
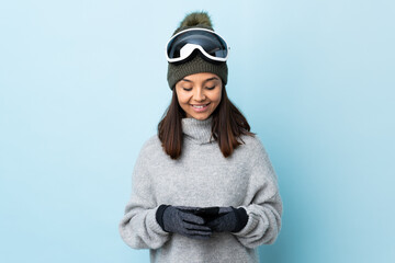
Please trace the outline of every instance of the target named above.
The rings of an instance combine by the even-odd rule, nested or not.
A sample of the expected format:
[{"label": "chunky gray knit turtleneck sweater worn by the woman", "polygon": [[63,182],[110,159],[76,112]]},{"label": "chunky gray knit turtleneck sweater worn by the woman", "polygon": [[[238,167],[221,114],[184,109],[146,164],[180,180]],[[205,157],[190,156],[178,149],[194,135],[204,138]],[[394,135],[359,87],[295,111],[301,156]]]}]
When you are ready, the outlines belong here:
[{"label": "chunky gray knit turtleneck sweater worn by the woman", "polygon": [[[211,122],[182,119],[179,160],[165,153],[157,135],[139,152],[120,233],[129,247],[150,249],[151,262],[258,262],[256,248],[279,235],[282,202],[263,145],[257,136],[242,136],[245,144],[224,158],[211,138]],[[155,214],[161,204],[244,207],[249,219],[239,232],[195,240],[160,228]]]}]

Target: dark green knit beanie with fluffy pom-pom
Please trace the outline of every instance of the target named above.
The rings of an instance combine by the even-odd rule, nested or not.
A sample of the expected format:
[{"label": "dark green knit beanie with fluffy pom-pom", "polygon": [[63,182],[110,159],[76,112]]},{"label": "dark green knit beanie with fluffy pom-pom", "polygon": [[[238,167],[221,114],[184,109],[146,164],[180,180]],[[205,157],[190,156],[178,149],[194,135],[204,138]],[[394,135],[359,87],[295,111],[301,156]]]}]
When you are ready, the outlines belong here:
[{"label": "dark green knit beanie with fluffy pom-pom", "polygon": [[[213,30],[212,22],[206,12],[193,12],[188,14],[184,20],[181,22],[180,26],[174,31],[172,35],[177,33],[193,28],[201,27]],[[187,60],[182,64],[168,64],[168,82],[170,89],[174,89],[176,83],[183,79],[185,76],[200,73],[200,72],[211,72],[217,75],[225,85],[227,82],[228,68],[226,62],[211,62],[206,59],[203,59],[202,56],[195,55],[191,60]]]}]

